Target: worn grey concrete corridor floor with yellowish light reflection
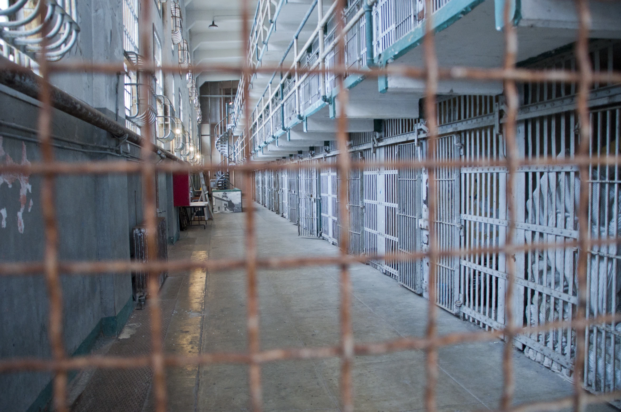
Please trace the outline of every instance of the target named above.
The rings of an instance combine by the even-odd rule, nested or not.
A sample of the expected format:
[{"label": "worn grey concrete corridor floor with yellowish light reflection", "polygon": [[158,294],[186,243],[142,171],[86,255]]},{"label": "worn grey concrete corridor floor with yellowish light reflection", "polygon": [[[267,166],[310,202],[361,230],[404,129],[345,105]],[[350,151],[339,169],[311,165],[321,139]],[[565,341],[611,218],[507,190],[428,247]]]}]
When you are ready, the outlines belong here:
[{"label": "worn grey concrete corridor floor with yellowish light reflection", "polygon": [[[257,205],[256,208],[260,256],[338,253],[337,248],[326,241],[299,238],[296,226],[288,220],[264,207]],[[182,232],[182,239],[170,249],[169,256],[174,259],[238,258],[243,255],[244,223],[245,213],[217,215],[206,230],[196,227]],[[427,300],[370,266],[351,267],[351,277],[357,342],[424,335]],[[263,349],[338,343],[337,268],[260,271],[259,295]],[[243,351],[247,347],[243,271],[209,274],[193,271],[171,275],[163,287],[162,297],[171,312],[170,318],[164,314],[165,323],[170,319],[166,351],[198,354]],[[438,309],[438,312],[440,334],[481,330],[446,311]],[[128,328],[138,330],[130,335],[132,337],[140,336],[140,329],[147,326],[132,319],[129,323],[134,326],[128,325]],[[146,339],[148,333],[142,336]],[[500,341],[443,347],[439,354],[438,411],[496,408],[502,391],[502,348]],[[421,351],[356,357],[353,372],[356,410],[424,410],[424,358]],[[531,361],[522,352],[514,352],[514,368],[515,403],[551,400],[571,394],[571,383]],[[338,375],[338,359],[265,365],[262,369],[265,410],[338,410]],[[245,365],[171,368],[168,390],[170,411],[249,408]],[[147,396],[146,392],[144,396],[142,410],[153,410],[152,396]],[[613,410],[607,405],[589,408],[589,411]]]}]

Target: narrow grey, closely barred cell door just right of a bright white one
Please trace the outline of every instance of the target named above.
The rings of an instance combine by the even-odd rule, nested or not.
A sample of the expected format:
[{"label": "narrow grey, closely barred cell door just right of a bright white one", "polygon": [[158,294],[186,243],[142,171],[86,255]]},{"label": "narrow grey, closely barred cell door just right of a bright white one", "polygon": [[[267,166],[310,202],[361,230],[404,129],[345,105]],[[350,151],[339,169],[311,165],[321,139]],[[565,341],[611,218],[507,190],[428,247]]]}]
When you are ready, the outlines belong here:
[{"label": "narrow grey, closely barred cell door just right of a bright white one", "polygon": [[[415,143],[405,143],[397,148],[400,160],[417,158]],[[399,251],[420,251],[420,169],[399,169],[397,173],[397,238]],[[399,262],[399,283],[422,295],[422,262]]]}]

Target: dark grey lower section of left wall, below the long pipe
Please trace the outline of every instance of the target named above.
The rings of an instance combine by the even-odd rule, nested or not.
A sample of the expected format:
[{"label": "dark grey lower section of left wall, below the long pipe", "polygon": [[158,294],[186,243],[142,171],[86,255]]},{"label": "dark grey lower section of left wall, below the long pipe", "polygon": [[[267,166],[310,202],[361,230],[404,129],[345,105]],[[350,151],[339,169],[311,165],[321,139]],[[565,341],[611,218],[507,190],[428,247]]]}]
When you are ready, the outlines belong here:
[{"label": "dark grey lower section of left wall, below the long pipe", "polygon": [[[13,96],[12,96],[13,95]],[[33,140],[38,102],[0,87],[0,158],[2,163],[40,160]],[[117,140],[107,132],[54,110],[52,133],[57,139],[59,161],[135,161],[139,148],[129,146],[123,157],[93,153],[114,148]],[[89,143],[87,146],[78,143]],[[100,147],[101,146],[101,147]],[[127,153],[127,145],[124,145]],[[86,150],[87,152],[84,152]],[[9,159],[10,158],[10,159]],[[160,174],[158,194],[166,213],[169,239],[178,238],[176,211],[172,206],[171,176]],[[39,261],[45,247],[41,216],[39,176],[4,174],[0,178],[0,260]],[[130,232],[142,222],[143,195],[138,175],[61,176],[55,184],[59,257],[62,260],[99,261],[130,259]],[[9,186],[10,185],[10,186]],[[22,200],[23,208],[22,208]],[[162,205],[164,207],[162,208]],[[170,207],[169,207],[170,205]],[[21,216],[19,218],[19,216]],[[85,353],[100,333],[120,331],[133,308],[129,273],[66,275],[63,285],[65,347],[68,354]],[[0,357],[48,357],[48,300],[41,275],[0,279]],[[0,411],[26,411],[41,403],[49,374],[0,375]],[[43,391],[43,393],[42,393]]]}]

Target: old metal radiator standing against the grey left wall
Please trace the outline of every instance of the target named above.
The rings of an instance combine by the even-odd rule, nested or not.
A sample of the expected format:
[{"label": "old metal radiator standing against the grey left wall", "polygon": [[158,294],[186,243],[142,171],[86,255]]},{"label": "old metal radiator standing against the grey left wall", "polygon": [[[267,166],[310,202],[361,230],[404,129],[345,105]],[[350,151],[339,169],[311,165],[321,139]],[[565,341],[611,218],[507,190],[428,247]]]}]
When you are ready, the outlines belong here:
[{"label": "old metal radiator standing against the grey left wall", "polygon": [[[168,246],[166,244],[166,219],[157,218],[157,256],[158,260],[168,259]],[[138,262],[146,262],[150,258],[147,248],[147,229],[143,225],[134,226],[132,229],[132,238],[134,239],[134,259]],[[159,286],[164,283],[168,277],[168,272],[160,272]],[[140,297],[147,295],[147,272],[132,273],[132,290],[135,300],[139,301]]]}]

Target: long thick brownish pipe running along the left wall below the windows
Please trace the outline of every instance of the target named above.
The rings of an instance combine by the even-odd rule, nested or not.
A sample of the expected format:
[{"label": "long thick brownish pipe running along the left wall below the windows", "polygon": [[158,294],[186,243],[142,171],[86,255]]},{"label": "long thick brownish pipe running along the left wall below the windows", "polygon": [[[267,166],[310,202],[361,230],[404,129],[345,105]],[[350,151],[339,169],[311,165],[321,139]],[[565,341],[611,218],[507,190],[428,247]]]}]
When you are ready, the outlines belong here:
[{"label": "long thick brownish pipe running along the left wall below the windows", "polygon": [[[12,61],[0,56],[0,84],[11,87],[18,92],[39,100],[41,93],[40,89],[41,78],[30,70],[25,70],[21,66],[16,65]],[[52,99],[52,106],[61,112],[65,112],[76,119],[83,120],[95,127],[99,127],[106,132],[111,133],[116,138],[124,138],[127,136],[127,140],[135,143],[136,145],[142,145],[142,136],[132,132],[129,128],[126,128],[117,123],[111,117],[99,112],[90,105],[83,101],[76,99],[67,92],[62,91],[56,86],[50,84],[50,97]],[[171,160],[181,161],[177,156],[170,153],[170,151],[163,148],[154,147],[153,151],[162,157],[166,157]]]}]

